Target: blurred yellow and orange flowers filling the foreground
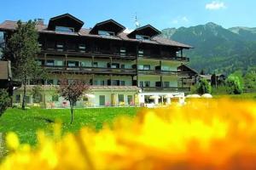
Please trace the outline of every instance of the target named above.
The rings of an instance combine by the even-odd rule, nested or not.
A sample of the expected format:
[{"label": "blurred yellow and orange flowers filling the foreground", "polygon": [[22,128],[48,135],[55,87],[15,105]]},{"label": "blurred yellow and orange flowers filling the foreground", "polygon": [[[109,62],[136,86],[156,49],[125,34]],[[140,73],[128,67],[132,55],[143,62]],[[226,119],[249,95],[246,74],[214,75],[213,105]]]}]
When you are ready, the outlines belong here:
[{"label": "blurred yellow and orange flowers filling the foreground", "polygon": [[119,118],[100,132],[84,127],[62,139],[56,123],[53,136],[38,132],[36,150],[9,133],[13,151],[0,168],[256,169],[255,108],[246,101],[194,101],[144,110],[132,121]]}]

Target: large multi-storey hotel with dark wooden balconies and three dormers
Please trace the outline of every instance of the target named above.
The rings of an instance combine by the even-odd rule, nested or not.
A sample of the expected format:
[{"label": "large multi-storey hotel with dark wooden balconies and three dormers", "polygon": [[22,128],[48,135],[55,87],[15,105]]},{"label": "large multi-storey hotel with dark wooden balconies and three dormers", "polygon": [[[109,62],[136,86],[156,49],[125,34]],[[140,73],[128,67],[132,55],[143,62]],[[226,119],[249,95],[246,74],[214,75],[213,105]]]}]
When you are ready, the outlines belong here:
[{"label": "large multi-storey hotel with dark wooden balconies and three dormers", "polygon": [[[16,26],[16,21],[9,20],[0,25],[5,41]],[[49,72],[49,78],[40,80],[44,84],[42,99],[34,101],[28,93],[28,104],[68,105],[52,92],[63,73],[72,74],[72,79],[85,77],[90,83],[90,94],[84,95],[78,107],[170,104],[172,97],[189,92],[183,83],[190,77],[189,71],[177,69],[189,62],[183,56],[189,45],[159,37],[160,31],[150,25],[130,33],[115,20],[89,29],[83,26],[84,22],[71,14],[53,17],[48,25],[38,20],[38,65]],[[28,89],[37,83],[31,80]],[[21,88],[15,90],[14,103],[20,103],[21,92]]]}]

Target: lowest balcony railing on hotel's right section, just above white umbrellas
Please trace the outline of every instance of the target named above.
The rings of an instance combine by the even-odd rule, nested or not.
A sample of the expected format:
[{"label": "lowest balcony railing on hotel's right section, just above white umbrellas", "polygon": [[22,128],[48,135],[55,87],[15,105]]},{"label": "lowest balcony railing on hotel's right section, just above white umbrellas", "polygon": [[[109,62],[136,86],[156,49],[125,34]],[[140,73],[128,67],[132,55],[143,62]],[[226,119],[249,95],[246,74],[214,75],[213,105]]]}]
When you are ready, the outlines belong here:
[{"label": "lowest balcony railing on hotel's right section, just above white umbrellas", "polygon": [[159,91],[170,91],[170,92],[189,92],[190,88],[179,88],[179,87],[139,87],[146,92],[159,92]]}]

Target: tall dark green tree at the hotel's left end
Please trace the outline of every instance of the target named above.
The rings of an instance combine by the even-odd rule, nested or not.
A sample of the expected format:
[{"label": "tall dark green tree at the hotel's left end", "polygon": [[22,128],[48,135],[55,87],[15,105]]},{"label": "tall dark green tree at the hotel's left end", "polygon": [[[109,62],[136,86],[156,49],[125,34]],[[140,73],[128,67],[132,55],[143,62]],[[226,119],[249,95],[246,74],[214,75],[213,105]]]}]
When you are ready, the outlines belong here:
[{"label": "tall dark green tree at the hotel's left end", "polygon": [[12,62],[12,71],[15,78],[23,84],[22,109],[25,109],[26,84],[28,79],[36,79],[43,73],[37,64],[36,58],[40,51],[38,48],[38,31],[36,22],[29,20],[17,22],[15,33],[9,38],[4,49],[3,59]]}]

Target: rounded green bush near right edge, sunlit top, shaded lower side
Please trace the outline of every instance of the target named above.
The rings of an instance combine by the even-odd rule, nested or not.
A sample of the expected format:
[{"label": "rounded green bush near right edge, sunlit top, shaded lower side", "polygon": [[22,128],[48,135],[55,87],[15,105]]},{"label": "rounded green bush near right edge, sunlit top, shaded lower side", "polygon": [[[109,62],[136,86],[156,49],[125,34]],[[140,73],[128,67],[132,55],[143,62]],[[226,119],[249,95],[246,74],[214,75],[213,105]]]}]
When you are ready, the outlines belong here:
[{"label": "rounded green bush near right edge, sunlit top, shaded lower side", "polygon": [[227,86],[227,92],[228,94],[241,94],[242,93],[242,87],[240,78],[230,75],[228,79],[226,80],[226,86]]}]

